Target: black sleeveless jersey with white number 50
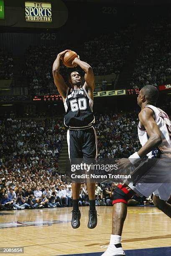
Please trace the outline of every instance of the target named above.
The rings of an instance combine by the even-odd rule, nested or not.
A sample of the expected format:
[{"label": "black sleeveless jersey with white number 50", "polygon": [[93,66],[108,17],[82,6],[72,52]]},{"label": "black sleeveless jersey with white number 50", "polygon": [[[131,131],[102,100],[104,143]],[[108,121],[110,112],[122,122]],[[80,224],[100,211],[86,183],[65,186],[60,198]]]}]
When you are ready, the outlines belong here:
[{"label": "black sleeveless jersey with white number 50", "polygon": [[71,129],[86,129],[95,122],[92,113],[93,101],[84,87],[79,90],[71,89],[70,93],[68,88],[64,107],[64,124]]}]

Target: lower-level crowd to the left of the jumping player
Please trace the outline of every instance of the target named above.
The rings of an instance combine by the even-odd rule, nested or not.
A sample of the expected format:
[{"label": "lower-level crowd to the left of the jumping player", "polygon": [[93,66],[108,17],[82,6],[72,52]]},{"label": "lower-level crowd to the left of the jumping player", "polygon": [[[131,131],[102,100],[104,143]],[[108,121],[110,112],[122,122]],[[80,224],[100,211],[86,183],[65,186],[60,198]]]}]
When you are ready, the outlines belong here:
[{"label": "lower-level crowd to the left of the jumping player", "polygon": [[[63,121],[54,118],[35,121],[11,114],[0,121],[1,209],[43,207],[46,202],[49,207],[61,206],[63,192],[56,199],[56,189],[52,188],[58,177],[64,130]],[[63,183],[60,184],[63,191]],[[41,195],[43,188],[47,195],[45,192]],[[67,195],[70,194],[68,191]]]}]

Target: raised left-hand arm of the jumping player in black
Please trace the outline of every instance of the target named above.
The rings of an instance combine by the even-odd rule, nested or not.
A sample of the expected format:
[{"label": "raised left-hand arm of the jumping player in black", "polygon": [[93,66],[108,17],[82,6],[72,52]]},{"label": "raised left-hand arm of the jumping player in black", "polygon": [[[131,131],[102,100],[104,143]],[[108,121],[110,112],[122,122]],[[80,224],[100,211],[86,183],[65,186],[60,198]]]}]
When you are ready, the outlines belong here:
[{"label": "raised left-hand arm of the jumping player in black", "polygon": [[64,82],[64,78],[59,73],[59,69],[60,69],[61,58],[66,54],[67,51],[70,51],[70,50],[62,51],[57,55],[57,58],[54,61],[53,68],[52,68],[54,83],[55,83],[60,95],[62,95],[62,97],[64,99],[66,97],[66,91],[67,91],[68,86]]}]

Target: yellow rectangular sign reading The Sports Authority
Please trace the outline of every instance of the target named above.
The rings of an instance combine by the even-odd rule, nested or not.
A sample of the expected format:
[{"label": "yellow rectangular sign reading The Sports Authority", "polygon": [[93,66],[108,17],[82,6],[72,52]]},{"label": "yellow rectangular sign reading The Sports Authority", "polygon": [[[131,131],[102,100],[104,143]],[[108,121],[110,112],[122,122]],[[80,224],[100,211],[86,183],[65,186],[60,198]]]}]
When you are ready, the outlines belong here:
[{"label": "yellow rectangular sign reading The Sports Authority", "polygon": [[52,22],[51,3],[25,2],[26,21]]}]

